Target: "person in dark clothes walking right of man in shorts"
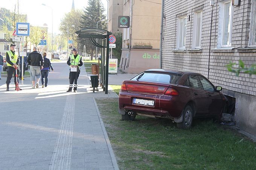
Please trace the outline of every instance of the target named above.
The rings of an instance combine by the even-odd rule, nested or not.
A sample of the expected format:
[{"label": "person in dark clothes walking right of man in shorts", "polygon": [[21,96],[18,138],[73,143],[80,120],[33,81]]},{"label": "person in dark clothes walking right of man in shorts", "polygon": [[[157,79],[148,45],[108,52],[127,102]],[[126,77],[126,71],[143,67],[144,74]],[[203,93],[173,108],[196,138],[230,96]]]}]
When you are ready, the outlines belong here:
[{"label": "person in dark clothes walking right of man in shorts", "polygon": [[[44,66],[43,69],[41,69],[41,81],[42,81],[42,88],[47,87],[47,83],[48,83],[48,74],[50,69],[52,69],[52,71],[54,71],[53,67],[52,67],[52,63],[50,62],[49,59],[46,58],[47,53],[43,53],[43,57],[44,57]],[[45,82],[44,82],[45,81]]]}]

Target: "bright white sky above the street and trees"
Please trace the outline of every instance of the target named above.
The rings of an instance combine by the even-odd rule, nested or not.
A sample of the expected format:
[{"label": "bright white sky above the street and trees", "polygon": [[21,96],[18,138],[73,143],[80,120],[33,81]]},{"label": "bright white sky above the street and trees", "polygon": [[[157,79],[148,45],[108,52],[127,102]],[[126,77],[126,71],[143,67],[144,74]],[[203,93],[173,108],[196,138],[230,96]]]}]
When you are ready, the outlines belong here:
[{"label": "bright white sky above the street and trees", "polygon": [[[33,26],[49,26],[49,32],[52,32],[53,16],[53,33],[59,32],[59,24],[65,13],[71,11],[73,0],[7,0],[3,3],[1,0],[0,7],[14,12],[15,4],[19,2],[20,14],[27,14],[27,22]],[[45,4],[47,6],[42,5]],[[102,0],[104,8],[107,9],[107,0]],[[74,0],[75,9],[84,9],[87,6],[87,0]],[[53,15],[52,15],[52,9]],[[16,6],[17,9],[17,6]]]}]

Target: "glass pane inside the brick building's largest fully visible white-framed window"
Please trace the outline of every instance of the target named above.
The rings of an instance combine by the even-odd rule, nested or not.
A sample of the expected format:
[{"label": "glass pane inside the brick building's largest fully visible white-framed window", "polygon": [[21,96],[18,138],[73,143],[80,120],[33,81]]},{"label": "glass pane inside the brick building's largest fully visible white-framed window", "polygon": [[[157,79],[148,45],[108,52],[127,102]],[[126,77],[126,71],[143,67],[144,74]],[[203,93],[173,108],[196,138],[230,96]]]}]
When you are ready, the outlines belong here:
[{"label": "glass pane inside the brick building's largest fully visible white-framed window", "polygon": [[232,9],[233,9],[233,7],[232,7],[231,2],[225,3],[222,45],[231,45],[232,15],[233,15]]}]

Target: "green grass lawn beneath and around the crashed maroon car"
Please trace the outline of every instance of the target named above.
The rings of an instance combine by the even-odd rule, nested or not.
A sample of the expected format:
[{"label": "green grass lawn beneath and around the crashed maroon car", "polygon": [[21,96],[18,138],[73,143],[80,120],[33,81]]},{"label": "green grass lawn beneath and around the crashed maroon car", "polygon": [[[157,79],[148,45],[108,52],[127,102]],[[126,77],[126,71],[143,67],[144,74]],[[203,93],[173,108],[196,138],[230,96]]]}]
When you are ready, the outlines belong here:
[{"label": "green grass lawn beneath and around the crashed maroon car", "polygon": [[168,119],[137,116],[122,121],[117,98],[96,102],[120,169],[256,167],[256,143],[226,126],[194,120],[192,129],[181,130]]}]

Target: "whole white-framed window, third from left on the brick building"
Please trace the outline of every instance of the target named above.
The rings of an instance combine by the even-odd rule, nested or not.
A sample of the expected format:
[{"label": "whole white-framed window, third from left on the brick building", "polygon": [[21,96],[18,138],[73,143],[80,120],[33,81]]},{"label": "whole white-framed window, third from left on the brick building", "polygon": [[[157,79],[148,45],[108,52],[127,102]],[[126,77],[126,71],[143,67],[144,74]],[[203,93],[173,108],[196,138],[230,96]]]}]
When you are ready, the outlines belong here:
[{"label": "whole white-framed window, third from left on the brick building", "polygon": [[217,48],[230,47],[232,39],[233,6],[231,0],[219,3]]}]

